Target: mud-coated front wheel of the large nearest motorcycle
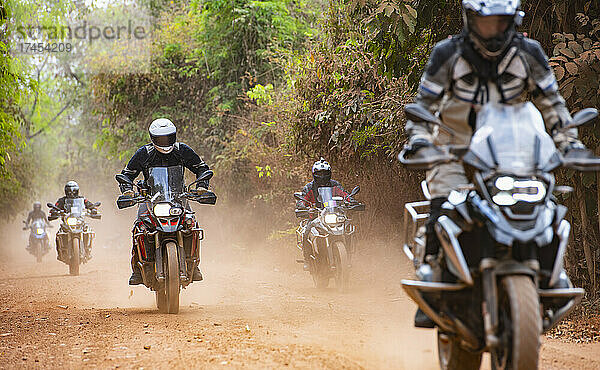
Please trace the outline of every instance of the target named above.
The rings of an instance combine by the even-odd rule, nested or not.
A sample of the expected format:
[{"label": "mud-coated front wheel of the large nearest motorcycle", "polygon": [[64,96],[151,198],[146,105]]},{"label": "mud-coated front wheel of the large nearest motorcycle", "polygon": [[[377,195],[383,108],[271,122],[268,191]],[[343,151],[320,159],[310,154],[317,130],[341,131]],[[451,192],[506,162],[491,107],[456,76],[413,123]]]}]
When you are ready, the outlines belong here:
[{"label": "mud-coated front wheel of the large nearest motorcycle", "polygon": [[498,289],[500,343],[491,351],[492,369],[537,369],[542,319],[529,276],[506,276]]}]

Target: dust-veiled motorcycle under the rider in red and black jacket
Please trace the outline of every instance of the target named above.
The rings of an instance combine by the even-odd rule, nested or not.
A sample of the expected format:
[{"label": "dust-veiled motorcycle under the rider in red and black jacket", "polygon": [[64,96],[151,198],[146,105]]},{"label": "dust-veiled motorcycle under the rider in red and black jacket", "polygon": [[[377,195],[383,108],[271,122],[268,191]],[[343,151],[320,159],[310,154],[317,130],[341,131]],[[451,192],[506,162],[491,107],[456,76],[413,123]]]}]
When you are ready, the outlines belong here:
[{"label": "dust-veiled motorcycle under the rider in red and black jacket", "polygon": [[[301,218],[300,226],[296,229],[296,245],[302,250],[302,236],[307,227],[311,228],[308,243],[312,249],[311,260],[298,260],[307,263],[310,274],[317,288],[326,288],[331,278],[335,279],[338,289],[348,288],[350,278],[350,260],[354,252],[352,235],[356,227],[352,224],[350,212],[364,211],[364,204],[348,204],[346,200],[360,191],[355,187],[346,197],[334,197],[332,187],[320,187],[318,202],[323,207],[317,208],[311,204],[309,209],[296,209],[296,217]],[[302,193],[294,193],[297,200],[307,202]],[[319,216],[311,221],[311,215]]]}]

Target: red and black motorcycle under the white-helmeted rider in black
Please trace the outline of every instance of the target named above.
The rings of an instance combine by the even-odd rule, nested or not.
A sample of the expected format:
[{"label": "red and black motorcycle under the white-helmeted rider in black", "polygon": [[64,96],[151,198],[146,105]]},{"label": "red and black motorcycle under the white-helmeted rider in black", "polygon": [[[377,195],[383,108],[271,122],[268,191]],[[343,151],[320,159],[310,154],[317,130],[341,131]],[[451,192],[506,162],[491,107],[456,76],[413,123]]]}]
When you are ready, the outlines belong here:
[{"label": "red and black motorcycle under the white-helmeted rider in black", "polygon": [[[146,183],[135,186],[138,194],[121,195],[119,209],[141,203],[145,212],[133,230],[137,266],[142,272],[144,285],[155,291],[156,306],[161,312],[179,312],[179,290],[192,282],[194,269],[200,264],[200,243],[204,230],[200,228],[188,200],[214,205],[213,192],[191,189],[192,185],[209,180],[212,171],[206,171],[187,187],[182,166],[152,167]],[[125,175],[116,176],[120,184],[133,186]]]}]

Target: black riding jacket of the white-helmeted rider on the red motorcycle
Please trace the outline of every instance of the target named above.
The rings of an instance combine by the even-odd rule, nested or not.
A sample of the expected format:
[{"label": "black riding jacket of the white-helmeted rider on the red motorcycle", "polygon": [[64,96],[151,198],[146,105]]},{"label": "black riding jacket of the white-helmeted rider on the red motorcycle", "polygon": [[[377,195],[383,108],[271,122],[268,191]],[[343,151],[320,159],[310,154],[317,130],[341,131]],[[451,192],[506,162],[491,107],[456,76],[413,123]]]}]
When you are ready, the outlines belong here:
[{"label": "black riding jacket of the white-helmeted rider on the red motorcycle", "polygon": [[[135,152],[121,173],[127,176],[131,181],[134,181],[141,172],[144,174],[144,181],[146,181],[148,179],[148,170],[151,167],[169,167],[178,165],[184,166],[192,171],[196,175],[196,178],[200,177],[200,175],[209,169],[200,156],[184,143],[175,143],[173,151],[168,154],[159,152],[152,144],[147,144]],[[208,188],[208,181],[198,183],[198,185]],[[127,184],[119,184],[119,187],[121,192],[133,190],[132,187]]]}]

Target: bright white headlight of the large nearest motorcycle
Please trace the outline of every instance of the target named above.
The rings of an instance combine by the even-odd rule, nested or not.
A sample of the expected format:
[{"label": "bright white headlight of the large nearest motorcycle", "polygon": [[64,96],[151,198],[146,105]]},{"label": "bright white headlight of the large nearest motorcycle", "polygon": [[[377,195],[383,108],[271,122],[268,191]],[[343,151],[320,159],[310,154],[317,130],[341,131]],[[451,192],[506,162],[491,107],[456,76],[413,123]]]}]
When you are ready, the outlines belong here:
[{"label": "bright white headlight of the large nearest motorcycle", "polygon": [[492,200],[499,206],[517,202],[537,203],[546,197],[546,184],[539,180],[518,180],[510,176],[498,177],[491,189]]}]

